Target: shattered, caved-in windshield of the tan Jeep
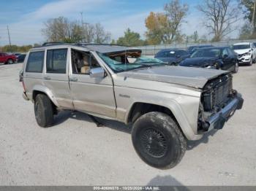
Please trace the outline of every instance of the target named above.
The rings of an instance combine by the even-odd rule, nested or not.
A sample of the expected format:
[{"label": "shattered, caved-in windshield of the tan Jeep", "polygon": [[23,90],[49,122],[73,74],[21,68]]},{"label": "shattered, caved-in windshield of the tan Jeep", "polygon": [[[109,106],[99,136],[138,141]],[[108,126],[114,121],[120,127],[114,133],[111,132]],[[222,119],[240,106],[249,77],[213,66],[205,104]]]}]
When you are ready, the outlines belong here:
[{"label": "shattered, caved-in windshield of the tan Jeep", "polygon": [[140,53],[138,52],[121,52],[116,55],[105,55],[98,53],[98,55],[115,72],[129,71],[151,66],[163,66],[166,64],[157,58],[140,56]]}]

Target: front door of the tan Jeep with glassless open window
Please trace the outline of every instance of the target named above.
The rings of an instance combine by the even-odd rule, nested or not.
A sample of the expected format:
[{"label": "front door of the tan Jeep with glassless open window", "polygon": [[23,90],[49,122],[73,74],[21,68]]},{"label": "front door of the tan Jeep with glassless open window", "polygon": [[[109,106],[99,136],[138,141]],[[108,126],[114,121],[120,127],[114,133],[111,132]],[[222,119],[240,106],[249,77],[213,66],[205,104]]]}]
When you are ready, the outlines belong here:
[{"label": "front door of the tan Jeep with glassless open window", "polygon": [[[91,52],[83,52],[72,49],[71,52],[78,52],[82,57],[89,55],[90,69],[99,68],[99,62]],[[82,73],[72,54],[71,71],[69,73],[69,85],[72,92],[73,104],[76,110],[90,114],[102,115],[116,118],[116,101],[113,93],[112,78],[106,73],[105,77],[90,77],[89,72]],[[75,69],[77,67],[77,69]]]}]

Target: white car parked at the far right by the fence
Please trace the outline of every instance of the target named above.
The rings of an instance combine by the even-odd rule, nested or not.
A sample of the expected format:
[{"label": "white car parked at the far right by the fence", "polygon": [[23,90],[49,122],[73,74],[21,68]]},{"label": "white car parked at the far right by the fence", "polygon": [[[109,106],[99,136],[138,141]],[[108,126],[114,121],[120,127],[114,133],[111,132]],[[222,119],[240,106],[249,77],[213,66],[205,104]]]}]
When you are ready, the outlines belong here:
[{"label": "white car parked at the far right by the fence", "polygon": [[251,42],[233,44],[233,50],[238,54],[239,64],[252,65],[256,61],[256,48]]}]

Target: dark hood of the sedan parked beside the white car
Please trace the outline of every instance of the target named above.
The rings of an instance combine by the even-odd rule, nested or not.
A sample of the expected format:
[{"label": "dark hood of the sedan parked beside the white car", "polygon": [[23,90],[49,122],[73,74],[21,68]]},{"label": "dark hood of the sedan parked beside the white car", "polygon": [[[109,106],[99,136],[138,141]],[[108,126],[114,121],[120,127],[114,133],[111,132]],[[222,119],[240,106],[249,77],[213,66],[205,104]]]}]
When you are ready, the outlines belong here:
[{"label": "dark hood of the sedan parked beside the white car", "polygon": [[208,57],[200,57],[200,58],[186,58],[179,65],[187,66],[187,67],[204,67],[208,65],[213,65],[216,63],[217,58],[208,58]]}]

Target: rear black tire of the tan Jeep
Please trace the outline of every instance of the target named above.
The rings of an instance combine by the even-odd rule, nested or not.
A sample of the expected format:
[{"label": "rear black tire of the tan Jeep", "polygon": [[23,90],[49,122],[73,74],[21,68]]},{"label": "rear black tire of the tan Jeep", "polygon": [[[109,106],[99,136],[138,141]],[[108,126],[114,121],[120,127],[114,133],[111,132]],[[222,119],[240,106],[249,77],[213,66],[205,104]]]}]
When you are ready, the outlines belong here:
[{"label": "rear black tire of the tan Jeep", "polygon": [[38,94],[34,101],[34,115],[42,128],[53,125],[53,104],[45,94]]}]

